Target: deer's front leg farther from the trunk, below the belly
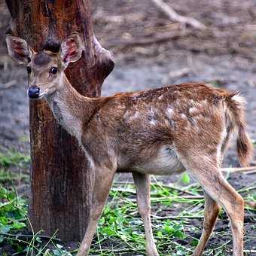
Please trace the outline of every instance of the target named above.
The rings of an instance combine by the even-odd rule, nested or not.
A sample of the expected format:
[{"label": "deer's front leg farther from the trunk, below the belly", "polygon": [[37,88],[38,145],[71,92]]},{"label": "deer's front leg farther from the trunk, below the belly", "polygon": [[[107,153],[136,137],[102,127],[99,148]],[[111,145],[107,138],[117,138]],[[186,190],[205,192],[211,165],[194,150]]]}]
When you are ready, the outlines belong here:
[{"label": "deer's front leg farther from the trunk, below the belly", "polygon": [[136,185],[139,214],[142,216],[145,227],[147,254],[148,256],[158,256],[151,227],[150,175],[133,172],[133,179]]}]

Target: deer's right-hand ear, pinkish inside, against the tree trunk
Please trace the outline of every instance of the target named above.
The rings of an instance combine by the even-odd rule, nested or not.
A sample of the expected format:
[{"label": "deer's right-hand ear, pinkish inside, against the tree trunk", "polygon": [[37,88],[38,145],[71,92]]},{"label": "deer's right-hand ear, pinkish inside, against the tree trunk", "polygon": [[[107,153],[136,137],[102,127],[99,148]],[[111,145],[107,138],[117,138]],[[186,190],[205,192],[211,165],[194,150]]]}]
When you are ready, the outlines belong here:
[{"label": "deer's right-hand ear, pinkish inside, against the tree trunk", "polygon": [[81,58],[83,51],[81,38],[75,33],[62,41],[60,56],[66,64],[76,62]]}]

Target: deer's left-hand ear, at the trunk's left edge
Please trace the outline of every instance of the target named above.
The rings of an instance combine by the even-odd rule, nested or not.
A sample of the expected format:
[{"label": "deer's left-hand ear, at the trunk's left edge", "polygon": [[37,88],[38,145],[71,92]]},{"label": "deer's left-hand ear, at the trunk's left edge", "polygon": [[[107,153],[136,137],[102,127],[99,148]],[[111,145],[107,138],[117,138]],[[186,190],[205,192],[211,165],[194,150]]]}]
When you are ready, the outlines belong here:
[{"label": "deer's left-hand ear, at the trunk's left edge", "polygon": [[32,57],[32,50],[22,38],[7,35],[6,44],[8,53],[12,59],[21,63],[28,63]]}]

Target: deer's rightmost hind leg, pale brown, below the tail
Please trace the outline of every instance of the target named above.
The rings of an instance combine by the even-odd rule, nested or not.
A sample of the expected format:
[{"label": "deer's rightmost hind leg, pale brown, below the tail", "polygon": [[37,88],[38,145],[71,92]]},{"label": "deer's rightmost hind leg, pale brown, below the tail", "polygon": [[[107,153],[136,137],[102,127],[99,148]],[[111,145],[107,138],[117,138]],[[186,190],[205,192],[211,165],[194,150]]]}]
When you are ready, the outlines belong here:
[{"label": "deer's rightmost hind leg, pale brown, below the tail", "polygon": [[191,154],[190,152],[181,153],[181,162],[184,163],[187,171],[201,184],[209,197],[223,206],[225,212],[227,212],[233,234],[233,256],[242,256],[243,199],[224,179],[221,170],[218,168],[218,160],[215,158],[211,158],[208,154],[202,152],[200,154],[195,154],[195,152]]}]

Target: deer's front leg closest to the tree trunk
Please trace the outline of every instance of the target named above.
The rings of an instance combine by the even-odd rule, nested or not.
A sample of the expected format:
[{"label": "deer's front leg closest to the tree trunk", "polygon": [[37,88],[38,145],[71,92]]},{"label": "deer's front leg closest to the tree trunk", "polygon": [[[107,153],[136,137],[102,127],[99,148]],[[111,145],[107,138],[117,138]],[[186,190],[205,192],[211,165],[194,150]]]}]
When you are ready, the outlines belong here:
[{"label": "deer's front leg closest to the tree trunk", "polygon": [[93,235],[96,232],[99,218],[102,215],[102,209],[105,206],[105,202],[108,198],[115,171],[116,169],[108,169],[105,166],[100,166],[99,168],[97,167],[95,169],[95,181],[93,200],[90,209],[90,220],[84,239],[81,242],[81,246],[78,250],[78,256],[86,256],[89,253],[90,244],[93,240]]}]

